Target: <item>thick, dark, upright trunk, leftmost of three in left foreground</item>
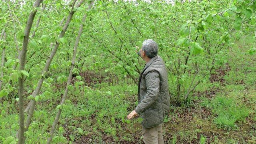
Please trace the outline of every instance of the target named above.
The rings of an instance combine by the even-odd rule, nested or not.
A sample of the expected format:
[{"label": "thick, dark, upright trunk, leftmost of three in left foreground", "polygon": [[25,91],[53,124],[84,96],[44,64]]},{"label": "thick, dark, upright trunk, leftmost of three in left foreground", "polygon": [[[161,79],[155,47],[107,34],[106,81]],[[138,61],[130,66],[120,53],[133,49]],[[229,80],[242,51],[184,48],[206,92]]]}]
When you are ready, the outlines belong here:
[{"label": "thick, dark, upright trunk, leftmost of three in left foreground", "polygon": [[[28,16],[28,20],[26,23],[26,28],[24,31],[24,39],[23,39],[23,44],[22,44],[22,50],[20,52],[20,70],[25,69],[25,62],[26,62],[26,54],[27,54],[27,48],[28,48],[28,39],[29,39],[29,34],[30,30],[33,24],[34,17],[36,15],[36,8],[40,5],[42,0],[36,0],[34,3],[33,7],[34,10],[30,12]],[[24,127],[24,76],[22,75],[19,79],[19,89],[18,89],[18,94],[19,94],[19,134],[18,134],[18,144],[24,144],[25,143],[25,127]]]}]

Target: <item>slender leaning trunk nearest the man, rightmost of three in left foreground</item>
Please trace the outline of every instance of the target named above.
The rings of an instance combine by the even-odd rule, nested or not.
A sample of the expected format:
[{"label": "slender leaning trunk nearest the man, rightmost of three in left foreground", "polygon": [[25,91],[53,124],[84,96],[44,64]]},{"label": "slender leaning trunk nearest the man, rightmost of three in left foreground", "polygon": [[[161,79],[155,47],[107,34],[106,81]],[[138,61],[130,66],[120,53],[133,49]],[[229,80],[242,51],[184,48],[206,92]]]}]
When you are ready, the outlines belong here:
[{"label": "slender leaning trunk nearest the man, rightmost of three in left foreground", "polygon": [[[94,0],[92,0],[92,2],[89,4],[87,10],[90,10],[90,8],[92,7],[93,2],[94,2]],[[68,82],[66,84],[66,89],[65,89],[65,92],[64,92],[64,95],[62,97],[62,101],[61,101],[60,105],[64,104],[64,102],[65,102],[65,100],[66,100],[66,98],[68,96],[68,86],[70,85],[70,82],[72,80],[72,71],[74,69],[74,64],[76,62],[76,49],[77,49],[78,44],[79,44],[80,36],[82,34],[82,30],[83,30],[83,27],[84,27],[84,22],[86,20],[86,17],[87,17],[87,13],[84,14],[84,17],[83,17],[83,20],[82,20],[82,24],[80,24],[79,32],[78,32],[78,35],[76,37],[76,43],[74,45],[74,50],[73,50],[72,64],[71,64],[70,72],[69,72],[69,76],[68,76]],[[58,109],[58,112],[56,114],[55,120],[54,120],[54,122],[52,124],[52,128],[51,128],[51,131],[50,131],[50,137],[47,140],[47,144],[50,144],[50,142],[52,140],[52,136],[53,136],[53,134],[55,132],[56,125],[57,125],[57,123],[58,123],[58,121],[60,119],[61,112],[62,112],[62,108]]]}]

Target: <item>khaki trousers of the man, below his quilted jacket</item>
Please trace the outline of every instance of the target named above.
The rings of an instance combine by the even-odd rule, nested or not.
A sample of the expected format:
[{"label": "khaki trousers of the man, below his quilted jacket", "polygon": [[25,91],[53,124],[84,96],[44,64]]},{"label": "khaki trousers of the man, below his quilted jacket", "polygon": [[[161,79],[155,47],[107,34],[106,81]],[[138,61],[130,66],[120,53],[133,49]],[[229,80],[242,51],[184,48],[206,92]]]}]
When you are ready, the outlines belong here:
[{"label": "khaki trousers of the man, below his quilted jacket", "polygon": [[142,127],[142,138],[145,144],[164,144],[162,126],[163,124],[152,128]]}]

